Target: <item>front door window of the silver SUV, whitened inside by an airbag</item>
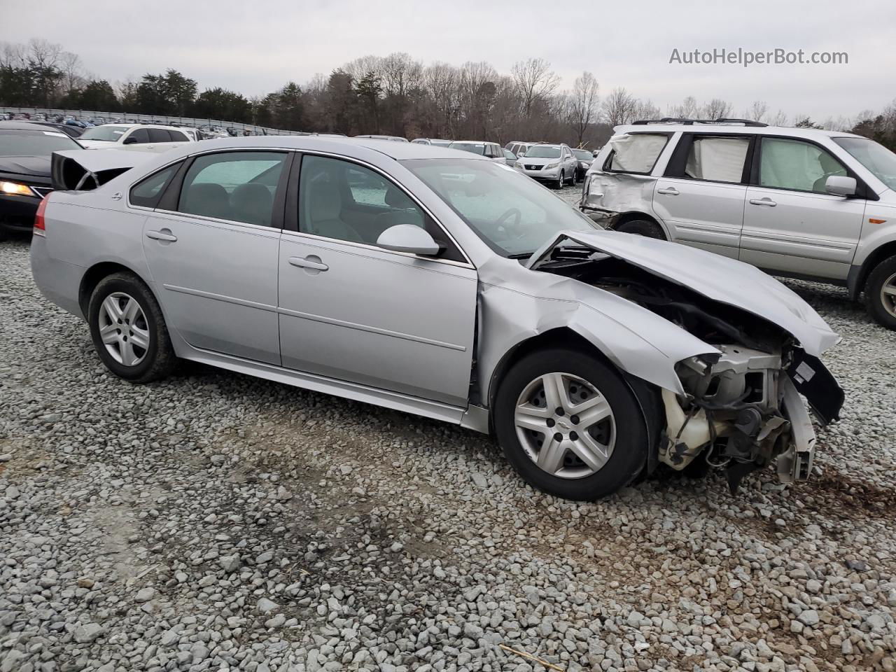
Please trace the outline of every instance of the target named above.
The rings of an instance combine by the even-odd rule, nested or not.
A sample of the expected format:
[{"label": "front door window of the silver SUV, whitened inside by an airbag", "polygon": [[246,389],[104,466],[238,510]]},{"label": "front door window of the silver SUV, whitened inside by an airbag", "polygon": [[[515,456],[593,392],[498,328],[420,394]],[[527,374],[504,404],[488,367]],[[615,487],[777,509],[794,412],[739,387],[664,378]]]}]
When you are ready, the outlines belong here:
[{"label": "front door window of the silver SUV, whitened inside by an airbag", "polygon": [[824,183],[831,175],[846,176],[847,170],[828,151],[800,140],[762,138],[759,185],[826,194]]}]

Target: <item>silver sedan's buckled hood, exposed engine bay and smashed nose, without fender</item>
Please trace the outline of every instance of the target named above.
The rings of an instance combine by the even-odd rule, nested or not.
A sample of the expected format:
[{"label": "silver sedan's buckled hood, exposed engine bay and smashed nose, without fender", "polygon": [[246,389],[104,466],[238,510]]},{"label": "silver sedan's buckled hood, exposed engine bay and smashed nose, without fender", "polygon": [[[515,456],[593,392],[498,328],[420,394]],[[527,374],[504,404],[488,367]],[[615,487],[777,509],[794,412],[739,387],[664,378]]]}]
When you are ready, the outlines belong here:
[{"label": "silver sedan's buckled hood, exposed engine bay and smashed nose, without fender", "polygon": [[659,462],[724,468],[732,491],[775,461],[782,482],[808,478],[815,433],[800,394],[826,424],[843,392],[818,358],[839,339],[796,294],[743,263],[615,232],[564,232],[528,265],[625,298],[705,344],[672,365],[676,389],[660,385]]}]

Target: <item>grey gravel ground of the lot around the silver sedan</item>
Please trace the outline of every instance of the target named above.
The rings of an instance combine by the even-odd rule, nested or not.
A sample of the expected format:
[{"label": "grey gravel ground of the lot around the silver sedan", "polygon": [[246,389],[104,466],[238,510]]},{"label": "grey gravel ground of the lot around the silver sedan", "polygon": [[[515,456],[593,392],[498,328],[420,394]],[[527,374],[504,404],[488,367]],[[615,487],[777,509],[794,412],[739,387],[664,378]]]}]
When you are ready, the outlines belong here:
[{"label": "grey gravel ground of the lot around the silver sedan", "polygon": [[0,244],[0,672],[892,670],[896,333],[791,286],[843,336],[815,478],[573,504],[453,426],[118,380]]}]

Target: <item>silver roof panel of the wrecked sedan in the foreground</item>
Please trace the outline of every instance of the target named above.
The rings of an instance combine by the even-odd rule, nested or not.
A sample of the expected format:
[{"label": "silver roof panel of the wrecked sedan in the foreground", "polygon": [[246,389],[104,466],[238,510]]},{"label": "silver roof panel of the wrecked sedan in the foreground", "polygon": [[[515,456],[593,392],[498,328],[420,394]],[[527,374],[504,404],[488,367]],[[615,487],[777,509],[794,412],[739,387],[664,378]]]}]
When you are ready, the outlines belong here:
[{"label": "silver roof panel of the wrecked sedan in the foreground", "polygon": [[[200,149],[197,149],[200,148]],[[205,151],[226,149],[287,149],[308,151],[332,151],[356,159],[369,156],[367,152],[375,151],[395,160],[405,159],[464,159],[488,160],[470,152],[458,152],[447,147],[414,142],[393,142],[375,138],[332,138],[320,135],[250,135],[248,137],[220,138],[219,140],[203,140],[201,144],[190,142],[182,147],[165,153],[168,160],[179,155],[189,156]]]}]

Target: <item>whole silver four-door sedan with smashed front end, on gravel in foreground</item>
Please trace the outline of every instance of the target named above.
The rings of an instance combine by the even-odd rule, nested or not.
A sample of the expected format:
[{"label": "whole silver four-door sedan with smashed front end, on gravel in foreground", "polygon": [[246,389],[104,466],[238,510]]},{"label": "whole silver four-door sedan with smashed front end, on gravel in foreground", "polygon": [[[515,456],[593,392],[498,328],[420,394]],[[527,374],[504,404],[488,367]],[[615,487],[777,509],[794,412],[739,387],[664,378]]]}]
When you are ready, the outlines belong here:
[{"label": "whole silver four-door sedan with smashed front end, on gravel in foreground", "polygon": [[315,137],[113,154],[54,157],[31,265],[135,383],[185,358],[460,424],[572,499],[660,462],[806,478],[800,395],[840,410],[837,336],[778,281],[603,231],[488,159]]}]

